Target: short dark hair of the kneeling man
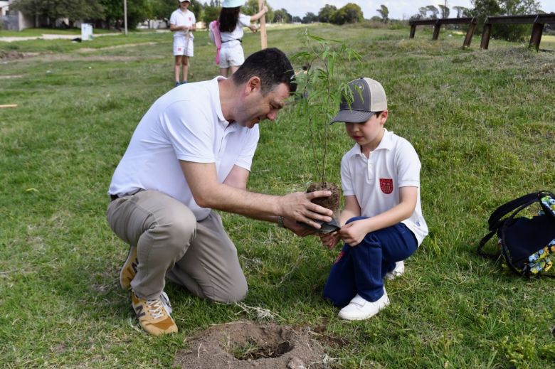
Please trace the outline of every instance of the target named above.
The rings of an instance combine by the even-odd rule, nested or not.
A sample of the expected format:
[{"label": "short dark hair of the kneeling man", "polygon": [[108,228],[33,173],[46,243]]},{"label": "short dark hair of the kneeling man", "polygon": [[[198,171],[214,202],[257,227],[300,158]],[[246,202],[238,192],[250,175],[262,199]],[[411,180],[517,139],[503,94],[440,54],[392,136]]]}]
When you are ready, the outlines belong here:
[{"label": "short dark hair of the kneeling man", "polygon": [[280,83],[285,83],[290,93],[297,90],[293,67],[287,55],[277,48],[265,48],[251,54],[231,79],[236,85],[241,85],[255,76],[260,77],[263,95]]}]

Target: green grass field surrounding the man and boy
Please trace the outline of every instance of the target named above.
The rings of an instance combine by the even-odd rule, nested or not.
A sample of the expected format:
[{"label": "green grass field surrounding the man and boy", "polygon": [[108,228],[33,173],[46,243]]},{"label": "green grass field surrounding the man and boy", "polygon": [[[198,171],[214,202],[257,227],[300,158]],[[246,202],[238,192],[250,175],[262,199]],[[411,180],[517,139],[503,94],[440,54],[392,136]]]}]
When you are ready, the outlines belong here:
[{"label": "green grass field surrounding the man and boy", "polygon": [[[302,28],[271,28],[270,46],[292,55]],[[223,214],[250,292],[244,301],[278,323],[323,327],[342,368],[551,368],[554,285],[519,279],[475,254],[497,205],[541,188],[553,191],[555,54],[478,38],[356,26],[316,26],[343,40],[363,63],[341,70],[388,93],[387,127],[422,161],[422,205],[430,235],[388,282],[391,306],[347,323],[320,292],[337,250],[274,225]],[[134,44],[133,46],[125,45]],[[113,46],[117,46],[113,48]],[[258,50],[245,36],[245,53]],[[82,48],[95,48],[83,51]],[[0,68],[0,357],[5,368],[169,367],[184,339],[214,323],[255,319],[168,284],[179,333],[139,331],[117,287],[127,246],[105,220],[107,186],[142,114],[173,86],[171,35],[133,33],[90,43],[23,41],[1,50],[41,53]],[[190,80],[217,73],[198,32]],[[331,129],[328,179],[352,143]],[[316,176],[308,132],[294,107],[261,124],[249,188],[303,191]]]}]

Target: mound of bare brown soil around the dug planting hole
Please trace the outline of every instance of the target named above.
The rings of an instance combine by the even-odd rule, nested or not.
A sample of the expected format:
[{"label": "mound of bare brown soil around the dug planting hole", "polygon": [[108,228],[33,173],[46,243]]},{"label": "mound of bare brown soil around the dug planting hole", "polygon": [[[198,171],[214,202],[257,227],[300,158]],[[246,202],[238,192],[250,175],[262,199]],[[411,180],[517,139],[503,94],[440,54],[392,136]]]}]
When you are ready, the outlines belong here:
[{"label": "mound of bare brown soil around the dug planting hole", "polygon": [[308,328],[237,321],[212,326],[187,340],[174,365],[187,369],[330,368],[324,348]]}]

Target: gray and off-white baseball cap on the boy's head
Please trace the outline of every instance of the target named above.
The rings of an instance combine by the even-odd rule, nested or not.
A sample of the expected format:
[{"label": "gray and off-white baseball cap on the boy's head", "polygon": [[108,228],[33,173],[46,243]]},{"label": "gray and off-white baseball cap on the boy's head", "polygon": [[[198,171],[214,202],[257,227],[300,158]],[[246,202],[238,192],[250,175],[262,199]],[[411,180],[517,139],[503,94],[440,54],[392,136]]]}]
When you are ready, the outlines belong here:
[{"label": "gray and off-white baseball cap on the boy's head", "polygon": [[386,91],[380,82],[360,77],[349,82],[349,88],[353,92],[351,104],[343,97],[332,123],[366,122],[372,114],[387,109]]}]

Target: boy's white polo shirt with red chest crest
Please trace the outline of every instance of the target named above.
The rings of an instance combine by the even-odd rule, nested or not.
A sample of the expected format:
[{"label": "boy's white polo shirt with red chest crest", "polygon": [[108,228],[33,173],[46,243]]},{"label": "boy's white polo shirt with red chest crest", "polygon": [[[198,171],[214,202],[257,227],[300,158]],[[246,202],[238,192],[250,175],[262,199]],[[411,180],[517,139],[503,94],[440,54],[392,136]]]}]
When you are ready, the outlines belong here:
[{"label": "boy's white polo shirt with red chest crest", "polygon": [[343,156],[343,195],[354,195],[361,207],[361,216],[371,218],[399,204],[399,188],[418,187],[414,213],[401,223],[414,233],[421,245],[428,235],[428,225],[422,216],[420,169],[420,159],[411,143],[385,129],[384,137],[369,158],[361,153],[359,144]]}]

